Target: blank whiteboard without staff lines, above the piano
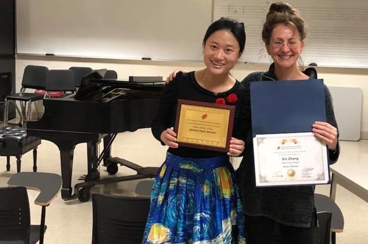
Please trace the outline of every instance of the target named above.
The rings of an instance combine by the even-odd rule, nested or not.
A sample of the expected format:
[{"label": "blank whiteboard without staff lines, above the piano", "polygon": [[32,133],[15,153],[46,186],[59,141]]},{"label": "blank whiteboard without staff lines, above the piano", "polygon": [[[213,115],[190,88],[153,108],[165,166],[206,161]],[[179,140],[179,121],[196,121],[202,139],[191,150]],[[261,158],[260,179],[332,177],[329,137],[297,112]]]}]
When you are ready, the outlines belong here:
[{"label": "blank whiteboard without staff lines, above the piano", "polygon": [[19,0],[17,53],[202,60],[212,0]]}]

